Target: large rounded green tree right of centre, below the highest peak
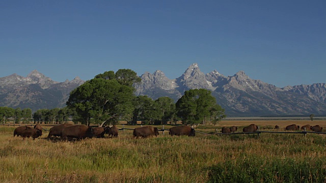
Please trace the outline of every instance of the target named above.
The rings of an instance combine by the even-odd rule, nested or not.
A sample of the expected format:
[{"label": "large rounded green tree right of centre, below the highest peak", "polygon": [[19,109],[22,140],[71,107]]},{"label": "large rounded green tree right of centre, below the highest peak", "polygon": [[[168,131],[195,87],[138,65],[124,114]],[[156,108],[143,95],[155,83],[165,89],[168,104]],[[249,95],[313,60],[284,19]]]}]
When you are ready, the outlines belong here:
[{"label": "large rounded green tree right of centre, below the highest peak", "polygon": [[183,124],[204,124],[206,119],[212,115],[212,109],[218,109],[216,106],[218,106],[216,99],[211,96],[209,90],[191,89],[185,91],[177,101],[176,112]]}]

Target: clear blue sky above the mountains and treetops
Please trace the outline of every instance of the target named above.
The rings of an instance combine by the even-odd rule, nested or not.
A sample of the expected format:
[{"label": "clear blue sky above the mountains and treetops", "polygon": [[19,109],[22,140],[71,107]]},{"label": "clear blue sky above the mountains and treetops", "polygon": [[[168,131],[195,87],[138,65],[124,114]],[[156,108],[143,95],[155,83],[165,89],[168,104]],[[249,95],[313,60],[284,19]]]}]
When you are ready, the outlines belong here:
[{"label": "clear blue sky above the mountains and treetops", "polygon": [[0,77],[59,82],[131,69],[177,78],[244,71],[286,85],[326,82],[326,1],[3,1]]}]

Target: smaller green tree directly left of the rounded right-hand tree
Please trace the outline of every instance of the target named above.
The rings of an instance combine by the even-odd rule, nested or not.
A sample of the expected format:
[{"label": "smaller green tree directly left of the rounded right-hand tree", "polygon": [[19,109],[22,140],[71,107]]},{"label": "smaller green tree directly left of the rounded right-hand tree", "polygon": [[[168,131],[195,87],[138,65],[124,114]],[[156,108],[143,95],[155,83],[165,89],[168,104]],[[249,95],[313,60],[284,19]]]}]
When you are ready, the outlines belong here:
[{"label": "smaller green tree directly left of the rounded right-hand tree", "polygon": [[155,100],[158,119],[161,125],[166,125],[169,120],[173,121],[175,114],[175,103],[169,97],[160,97]]}]

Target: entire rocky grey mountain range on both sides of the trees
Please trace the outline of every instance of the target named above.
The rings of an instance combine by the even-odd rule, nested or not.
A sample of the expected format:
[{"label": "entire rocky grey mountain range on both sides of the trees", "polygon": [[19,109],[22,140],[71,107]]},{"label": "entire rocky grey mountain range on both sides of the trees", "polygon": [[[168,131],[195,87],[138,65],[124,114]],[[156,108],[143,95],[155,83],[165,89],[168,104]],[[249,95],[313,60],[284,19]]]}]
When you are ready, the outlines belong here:
[{"label": "entire rocky grey mountain range on both sides of the trees", "polygon": [[[159,70],[140,77],[142,82],[135,85],[137,96],[170,97],[177,101],[186,90],[205,88],[211,90],[229,117],[326,114],[325,83],[280,88],[251,79],[243,71],[233,76],[224,76],[216,70],[204,74],[196,63],[175,79],[167,78]],[[79,77],[52,81],[36,70],[27,77],[12,74],[0,78],[0,106],[29,107],[33,111],[64,107],[70,91],[84,82]]]}]

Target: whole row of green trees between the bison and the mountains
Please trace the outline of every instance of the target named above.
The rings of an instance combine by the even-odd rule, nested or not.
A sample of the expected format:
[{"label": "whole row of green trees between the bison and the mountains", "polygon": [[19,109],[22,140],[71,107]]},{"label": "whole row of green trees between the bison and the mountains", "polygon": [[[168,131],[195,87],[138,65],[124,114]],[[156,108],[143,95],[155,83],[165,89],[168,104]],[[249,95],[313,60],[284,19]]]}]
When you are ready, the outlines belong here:
[{"label": "whole row of green trees between the bison and the mountains", "polygon": [[[207,89],[188,90],[174,103],[169,97],[153,100],[135,96],[134,85],[140,82],[141,78],[130,69],[120,69],[116,73],[107,71],[72,90],[67,107],[39,109],[30,116],[37,123],[61,124],[71,118],[74,123],[101,126],[115,125],[118,121],[129,124],[142,121],[145,125],[165,125],[168,121],[173,124],[178,120],[186,125],[205,124],[206,121],[216,124],[226,117],[225,110]],[[15,121],[19,121],[18,117]]]}]

